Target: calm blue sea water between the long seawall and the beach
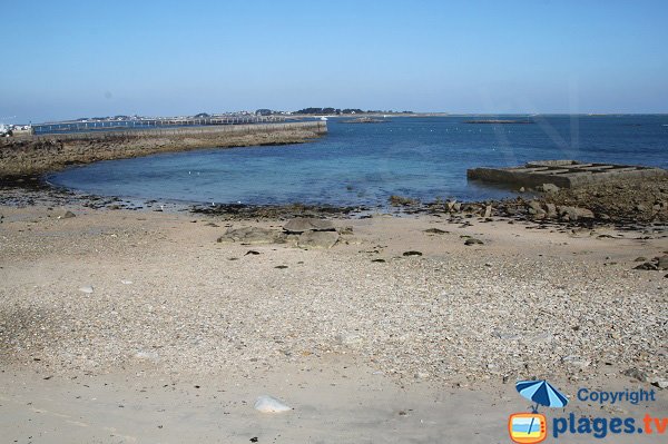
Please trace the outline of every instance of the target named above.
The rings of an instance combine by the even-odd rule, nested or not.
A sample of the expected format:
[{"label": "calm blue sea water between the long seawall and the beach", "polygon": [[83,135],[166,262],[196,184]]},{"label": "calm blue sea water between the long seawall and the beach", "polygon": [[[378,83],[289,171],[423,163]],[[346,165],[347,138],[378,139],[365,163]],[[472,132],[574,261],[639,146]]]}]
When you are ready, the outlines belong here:
[{"label": "calm blue sea water between the long seawall and the beach", "polygon": [[[511,117],[518,118],[518,117]],[[312,144],[209,149],[71,168],[49,180],[80,191],[187,203],[385,205],[396,194],[484,199],[510,191],[466,181],[466,168],[578,159],[668,167],[668,116],[330,119]]]}]

